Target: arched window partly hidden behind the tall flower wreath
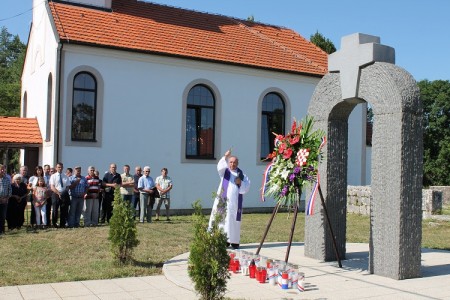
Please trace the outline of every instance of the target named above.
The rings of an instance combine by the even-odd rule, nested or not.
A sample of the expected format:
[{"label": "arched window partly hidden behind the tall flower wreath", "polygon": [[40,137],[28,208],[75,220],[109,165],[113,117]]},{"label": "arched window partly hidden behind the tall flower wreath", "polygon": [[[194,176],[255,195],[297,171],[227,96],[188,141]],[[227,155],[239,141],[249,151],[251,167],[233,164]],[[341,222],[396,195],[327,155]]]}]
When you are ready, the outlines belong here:
[{"label": "arched window partly hidden behind the tall flower wreath", "polygon": [[264,96],[261,111],[261,159],[267,157],[274,149],[272,132],[284,134],[285,105],[277,93]]}]

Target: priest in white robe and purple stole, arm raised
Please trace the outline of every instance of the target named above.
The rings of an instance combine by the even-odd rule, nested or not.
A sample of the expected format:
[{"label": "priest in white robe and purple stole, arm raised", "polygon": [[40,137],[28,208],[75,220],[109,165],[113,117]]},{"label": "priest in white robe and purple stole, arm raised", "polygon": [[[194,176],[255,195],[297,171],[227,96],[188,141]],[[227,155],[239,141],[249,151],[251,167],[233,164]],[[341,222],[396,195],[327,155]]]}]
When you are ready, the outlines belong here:
[{"label": "priest in white robe and purple stole, arm raised", "polygon": [[226,212],[219,223],[219,228],[222,228],[227,234],[228,246],[231,245],[233,249],[239,248],[243,194],[246,194],[250,189],[250,180],[238,168],[238,164],[239,159],[231,155],[231,150],[227,150],[217,164],[220,184],[209,219],[209,228],[211,228],[216,213],[222,212],[220,209],[222,201],[226,200]]}]

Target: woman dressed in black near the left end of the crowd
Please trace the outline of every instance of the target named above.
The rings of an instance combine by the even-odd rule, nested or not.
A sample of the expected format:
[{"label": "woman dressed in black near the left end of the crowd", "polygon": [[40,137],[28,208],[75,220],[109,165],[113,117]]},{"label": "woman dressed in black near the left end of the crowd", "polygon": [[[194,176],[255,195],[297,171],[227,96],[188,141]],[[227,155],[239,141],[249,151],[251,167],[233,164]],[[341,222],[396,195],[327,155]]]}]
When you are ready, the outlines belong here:
[{"label": "woman dressed in black near the left end of the crowd", "polygon": [[22,182],[22,176],[19,174],[14,175],[11,188],[12,195],[9,198],[8,211],[6,213],[6,221],[10,230],[20,229],[23,226],[28,197],[27,185]]}]

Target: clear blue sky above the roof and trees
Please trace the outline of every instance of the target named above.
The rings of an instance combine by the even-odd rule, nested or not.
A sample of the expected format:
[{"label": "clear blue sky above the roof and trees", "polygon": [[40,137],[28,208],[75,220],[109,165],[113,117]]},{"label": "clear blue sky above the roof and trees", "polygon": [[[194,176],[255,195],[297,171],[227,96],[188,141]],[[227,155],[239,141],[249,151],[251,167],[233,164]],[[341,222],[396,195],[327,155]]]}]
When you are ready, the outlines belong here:
[{"label": "clear blue sky above the roof and trees", "polygon": [[[396,65],[416,80],[450,80],[449,0],[154,0],[152,2],[294,29],[309,39],[319,31],[340,49],[361,32],[395,48]],[[32,0],[0,0],[0,27],[26,43]]]}]

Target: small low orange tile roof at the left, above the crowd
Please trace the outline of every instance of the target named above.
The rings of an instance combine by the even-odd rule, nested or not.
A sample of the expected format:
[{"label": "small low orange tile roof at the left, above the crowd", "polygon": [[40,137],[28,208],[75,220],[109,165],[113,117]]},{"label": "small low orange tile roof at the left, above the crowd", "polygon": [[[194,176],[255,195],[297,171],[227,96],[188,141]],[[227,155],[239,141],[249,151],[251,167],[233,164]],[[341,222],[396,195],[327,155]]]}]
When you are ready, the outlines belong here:
[{"label": "small low orange tile roof at the left, above the crowd", "polygon": [[37,119],[0,116],[0,144],[41,145],[42,136]]}]

